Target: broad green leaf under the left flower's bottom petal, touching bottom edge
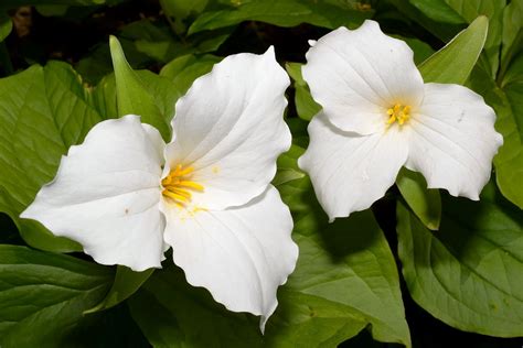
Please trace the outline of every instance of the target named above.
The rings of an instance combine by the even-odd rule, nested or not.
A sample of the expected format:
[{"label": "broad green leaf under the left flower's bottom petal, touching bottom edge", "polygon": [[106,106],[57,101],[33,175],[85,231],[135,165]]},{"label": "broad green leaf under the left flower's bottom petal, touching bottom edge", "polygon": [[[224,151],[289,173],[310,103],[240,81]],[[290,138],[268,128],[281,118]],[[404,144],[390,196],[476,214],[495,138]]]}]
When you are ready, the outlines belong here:
[{"label": "broad green leaf under the left flower's bottom petal, touching bottom edge", "polygon": [[269,319],[264,336],[256,317],[227,312],[173,267],[154,273],[129,305],[153,347],[335,346],[365,327],[350,309],[317,296],[280,290],[278,297],[286,313]]}]

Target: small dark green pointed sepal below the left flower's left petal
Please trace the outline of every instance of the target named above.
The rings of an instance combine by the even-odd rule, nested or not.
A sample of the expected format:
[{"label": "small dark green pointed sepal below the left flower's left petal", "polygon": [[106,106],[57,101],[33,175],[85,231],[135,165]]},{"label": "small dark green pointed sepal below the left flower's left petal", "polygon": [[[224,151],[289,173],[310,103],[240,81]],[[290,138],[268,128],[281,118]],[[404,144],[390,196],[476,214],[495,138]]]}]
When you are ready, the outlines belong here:
[{"label": "small dark green pointed sepal below the left flower's left petal", "polygon": [[116,276],[105,298],[84,314],[94,313],[116,306],[131,296],[151,276],[154,269],[135,272],[125,265],[118,265]]}]

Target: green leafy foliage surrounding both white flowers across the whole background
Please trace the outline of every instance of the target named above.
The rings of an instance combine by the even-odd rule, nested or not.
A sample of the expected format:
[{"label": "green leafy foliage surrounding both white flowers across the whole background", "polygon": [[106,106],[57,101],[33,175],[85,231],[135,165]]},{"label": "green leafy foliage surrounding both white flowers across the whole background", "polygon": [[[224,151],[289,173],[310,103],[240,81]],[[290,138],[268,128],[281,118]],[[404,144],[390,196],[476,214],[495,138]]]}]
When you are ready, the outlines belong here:
[{"label": "green leafy foliage surrounding both white flowers across the whole background", "polygon": [[[10,35],[6,10],[12,14],[28,3],[45,20],[61,17],[74,28],[87,25],[89,39],[98,37],[87,40],[90,46],[78,56],[63,57],[79,74],[66,63],[41,66],[25,56],[46,50],[25,45],[47,32],[33,31],[23,40]],[[367,342],[346,340],[365,330],[386,346],[409,347],[402,300],[407,291],[451,327],[523,335],[523,1],[160,0],[148,2],[156,10],[126,12],[137,3],[0,4],[0,74],[18,69],[0,78],[1,347],[145,346],[146,339],[154,347],[357,347]],[[118,21],[111,23],[115,13]],[[467,84],[495,110],[504,144],[480,202],[440,195],[419,173],[402,170],[397,189],[372,210],[327,222],[297,165],[309,141],[308,122],[321,110],[301,76],[303,54],[308,40],[340,25],[356,28],[371,17],[413,48],[426,83]],[[95,28],[102,22],[107,28]],[[110,45],[108,33],[118,36]],[[11,41],[19,46],[9,52]],[[278,290],[279,305],[265,335],[257,317],[228,312],[207,291],[190,286],[169,254],[154,272],[102,267],[79,253],[52,253],[82,251],[82,246],[20,219],[53,180],[61,156],[94,124],[136,113],[169,141],[175,102],[195,78],[226,55],[260,53],[269,45],[292,79],[286,121],[293,144],[278,159],[273,184],[291,209],[300,255]],[[396,232],[398,248],[391,250]],[[431,324],[425,324],[416,328],[426,334],[414,333],[433,339]]]}]

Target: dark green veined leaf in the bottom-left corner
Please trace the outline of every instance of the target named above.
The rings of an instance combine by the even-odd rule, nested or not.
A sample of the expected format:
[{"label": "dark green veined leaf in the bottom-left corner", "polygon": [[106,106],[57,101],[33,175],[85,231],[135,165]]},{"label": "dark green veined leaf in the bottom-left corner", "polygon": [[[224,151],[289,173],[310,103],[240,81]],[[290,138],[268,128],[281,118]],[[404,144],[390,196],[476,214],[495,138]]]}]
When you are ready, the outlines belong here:
[{"label": "dark green veined leaf in the bottom-left corner", "polygon": [[63,347],[113,271],[72,257],[0,246],[0,345]]}]

